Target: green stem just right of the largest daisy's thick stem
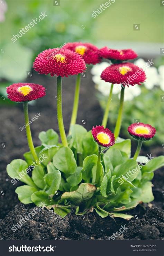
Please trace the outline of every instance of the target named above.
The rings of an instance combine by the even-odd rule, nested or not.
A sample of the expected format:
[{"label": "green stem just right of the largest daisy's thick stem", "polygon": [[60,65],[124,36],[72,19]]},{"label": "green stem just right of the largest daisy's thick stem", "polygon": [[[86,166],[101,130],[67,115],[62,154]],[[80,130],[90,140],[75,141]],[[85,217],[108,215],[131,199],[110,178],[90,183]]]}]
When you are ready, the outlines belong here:
[{"label": "green stem just right of the largest daisy's thick stem", "polygon": [[[76,118],[77,118],[77,113],[78,113],[79,94],[80,94],[80,77],[81,77],[81,73],[78,74],[77,80],[76,80],[74,103],[73,103],[73,109],[72,109],[70,128],[71,128],[71,125],[76,123]],[[71,134],[70,130],[69,130],[69,134]]]}]

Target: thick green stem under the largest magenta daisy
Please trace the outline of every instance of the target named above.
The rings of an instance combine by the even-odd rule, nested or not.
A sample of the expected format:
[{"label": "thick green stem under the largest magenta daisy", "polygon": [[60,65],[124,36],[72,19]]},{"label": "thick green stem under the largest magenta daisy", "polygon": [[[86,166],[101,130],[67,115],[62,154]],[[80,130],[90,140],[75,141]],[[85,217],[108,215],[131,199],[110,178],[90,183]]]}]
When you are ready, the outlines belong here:
[{"label": "thick green stem under the largest magenta daisy", "polygon": [[60,131],[62,144],[64,147],[68,147],[67,138],[65,135],[63,114],[62,114],[62,77],[57,77],[57,120]]}]

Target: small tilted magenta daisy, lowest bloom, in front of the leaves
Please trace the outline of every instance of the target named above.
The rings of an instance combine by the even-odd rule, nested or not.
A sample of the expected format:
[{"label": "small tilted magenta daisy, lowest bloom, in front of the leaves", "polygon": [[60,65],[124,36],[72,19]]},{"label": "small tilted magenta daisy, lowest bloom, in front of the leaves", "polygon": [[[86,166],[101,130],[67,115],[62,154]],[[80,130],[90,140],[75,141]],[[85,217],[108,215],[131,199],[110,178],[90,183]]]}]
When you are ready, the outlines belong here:
[{"label": "small tilted magenta daisy, lowest bloom, in front of the leaves", "polygon": [[92,128],[92,135],[94,140],[103,147],[111,147],[115,144],[115,136],[108,128],[104,126],[96,125]]}]

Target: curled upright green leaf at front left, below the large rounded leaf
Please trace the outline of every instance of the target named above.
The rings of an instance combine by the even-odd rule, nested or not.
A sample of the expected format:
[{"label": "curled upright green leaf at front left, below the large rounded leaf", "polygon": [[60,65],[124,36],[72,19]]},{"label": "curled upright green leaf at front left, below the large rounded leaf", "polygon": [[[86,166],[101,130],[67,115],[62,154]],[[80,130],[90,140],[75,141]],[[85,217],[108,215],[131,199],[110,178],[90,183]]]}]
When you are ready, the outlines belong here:
[{"label": "curled upright green leaf at front left, below the large rounded leaf", "polygon": [[60,186],[61,172],[59,170],[54,170],[52,173],[47,173],[44,176],[44,181],[49,187],[48,190],[46,190],[46,193],[48,195],[54,195]]}]

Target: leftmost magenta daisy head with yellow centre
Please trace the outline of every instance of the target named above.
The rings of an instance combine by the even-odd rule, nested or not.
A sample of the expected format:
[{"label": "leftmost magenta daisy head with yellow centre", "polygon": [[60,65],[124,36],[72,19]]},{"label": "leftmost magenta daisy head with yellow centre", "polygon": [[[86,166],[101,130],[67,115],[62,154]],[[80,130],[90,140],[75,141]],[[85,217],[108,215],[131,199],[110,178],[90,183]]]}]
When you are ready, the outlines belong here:
[{"label": "leftmost magenta daisy head with yellow centre", "polygon": [[31,101],[45,96],[45,90],[36,83],[13,83],[7,87],[7,97],[16,102]]}]

